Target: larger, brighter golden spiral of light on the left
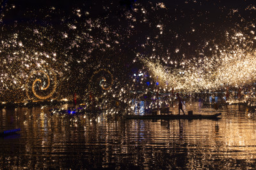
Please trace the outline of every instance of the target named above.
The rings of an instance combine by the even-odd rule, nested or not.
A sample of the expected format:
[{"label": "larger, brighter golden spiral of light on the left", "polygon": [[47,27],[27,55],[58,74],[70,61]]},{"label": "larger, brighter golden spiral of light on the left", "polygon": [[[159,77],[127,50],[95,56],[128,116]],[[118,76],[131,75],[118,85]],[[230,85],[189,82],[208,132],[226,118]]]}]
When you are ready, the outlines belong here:
[{"label": "larger, brighter golden spiral of light on the left", "polygon": [[[41,99],[41,100],[45,100],[45,99],[49,99],[50,97],[52,97],[52,95],[56,92],[56,87],[57,87],[57,78],[56,78],[56,73],[54,73],[54,71],[52,71],[51,69],[48,70],[49,73],[47,73],[46,71],[43,70],[34,70],[29,74],[28,80],[26,81],[26,96],[28,97],[28,99],[31,99],[31,95],[29,95],[29,90],[32,90],[33,96],[35,96],[37,99]],[[52,83],[53,83],[53,87],[50,89],[50,85],[51,85],[51,78],[49,76],[49,74],[52,77]],[[39,76],[40,78],[38,78],[37,76]],[[44,76],[46,77],[46,86],[44,87],[41,86],[42,83],[45,82],[45,80],[42,80],[42,78],[44,78]],[[35,80],[33,81],[32,85],[29,86],[29,83],[31,83],[31,78],[36,77]],[[38,94],[38,89],[36,90],[36,86],[38,85],[38,83],[40,83],[39,86],[39,90],[41,92],[44,92],[44,94]],[[46,90],[50,89],[49,92],[46,92]],[[46,95],[45,95],[46,92]]]}]

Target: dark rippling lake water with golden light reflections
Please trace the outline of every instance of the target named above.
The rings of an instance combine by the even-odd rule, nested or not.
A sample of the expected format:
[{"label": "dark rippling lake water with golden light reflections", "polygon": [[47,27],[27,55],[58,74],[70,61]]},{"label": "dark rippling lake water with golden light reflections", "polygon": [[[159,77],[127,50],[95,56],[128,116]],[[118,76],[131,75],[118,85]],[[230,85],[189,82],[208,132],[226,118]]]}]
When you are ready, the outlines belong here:
[{"label": "dark rippling lake water with golden light reflections", "polygon": [[0,169],[256,169],[255,113],[187,105],[221,119],[90,120],[52,116],[49,108],[2,109],[0,132],[20,132],[0,138]]}]

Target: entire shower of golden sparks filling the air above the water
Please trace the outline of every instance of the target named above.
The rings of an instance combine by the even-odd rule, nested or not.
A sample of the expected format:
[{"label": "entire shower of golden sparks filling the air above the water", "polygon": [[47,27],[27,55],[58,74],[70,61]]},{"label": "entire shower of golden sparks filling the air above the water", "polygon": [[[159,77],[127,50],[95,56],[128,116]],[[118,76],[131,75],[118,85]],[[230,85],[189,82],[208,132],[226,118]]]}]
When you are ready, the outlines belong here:
[{"label": "entire shower of golden sparks filling the air above the water", "polygon": [[23,5],[1,4],[1,101],[70,99],[76,91],[81,100],[94,97],[108,113],[120,113],[122,104],[130,111],[134,99],[174,90],[246,91],[255,83],[255,19],[248,17],[254,4]]}]

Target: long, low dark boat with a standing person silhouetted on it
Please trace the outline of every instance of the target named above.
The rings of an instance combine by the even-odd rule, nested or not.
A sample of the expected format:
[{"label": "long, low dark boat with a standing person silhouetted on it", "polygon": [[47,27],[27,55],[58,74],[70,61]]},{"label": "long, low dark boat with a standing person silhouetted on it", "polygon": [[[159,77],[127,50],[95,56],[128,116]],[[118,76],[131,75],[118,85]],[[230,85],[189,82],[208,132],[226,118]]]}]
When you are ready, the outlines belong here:
[{"label": "long, low dark boat with a standing person silhouetted on it", "polygon": [[126,115],[127,119],[202,119],[202,118],[218,118],[221,113],[212,115]]}]

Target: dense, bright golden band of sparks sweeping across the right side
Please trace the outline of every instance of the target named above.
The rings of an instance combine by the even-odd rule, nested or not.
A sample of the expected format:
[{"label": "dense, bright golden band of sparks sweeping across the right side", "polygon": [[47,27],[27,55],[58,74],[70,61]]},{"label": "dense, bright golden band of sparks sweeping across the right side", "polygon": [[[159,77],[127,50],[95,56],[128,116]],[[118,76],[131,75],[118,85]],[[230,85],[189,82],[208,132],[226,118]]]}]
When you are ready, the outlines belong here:
[{"label": "dense, bright golden band of sparks sweeping across the right side", "polygon": [[256,78],[255,56],[254,51],[236,48],[212,58],[195,59],[186,64],[181,62],[186,67],[179,69],[166,67],[148,59],[140,59],[161,87],[196,92],[205,89],[216,90],[227,84],[241,87],[252,83]]}]

